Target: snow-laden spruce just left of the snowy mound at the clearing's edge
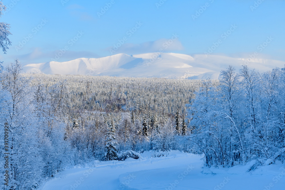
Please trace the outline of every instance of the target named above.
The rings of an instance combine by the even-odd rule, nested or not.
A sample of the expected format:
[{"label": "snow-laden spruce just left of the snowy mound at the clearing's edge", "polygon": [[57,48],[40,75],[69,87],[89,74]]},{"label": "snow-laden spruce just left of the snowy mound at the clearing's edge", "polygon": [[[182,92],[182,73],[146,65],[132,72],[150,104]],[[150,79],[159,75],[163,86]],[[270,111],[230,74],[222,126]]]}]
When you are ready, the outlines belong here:
[{"label": "snow-laden spruce just left of the snowy mound at the clearing's edge", "polygon": [[105,135],[105,160],[117,160],[117,150],[116,150],[116,137],[115,137],[115,127],[113,120],[108,126],[107,134]]}]

